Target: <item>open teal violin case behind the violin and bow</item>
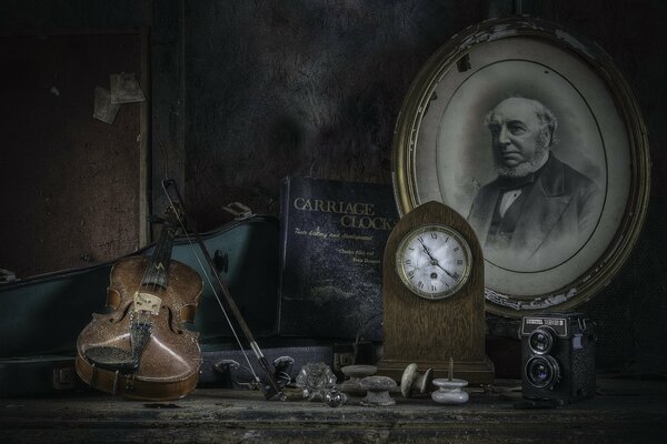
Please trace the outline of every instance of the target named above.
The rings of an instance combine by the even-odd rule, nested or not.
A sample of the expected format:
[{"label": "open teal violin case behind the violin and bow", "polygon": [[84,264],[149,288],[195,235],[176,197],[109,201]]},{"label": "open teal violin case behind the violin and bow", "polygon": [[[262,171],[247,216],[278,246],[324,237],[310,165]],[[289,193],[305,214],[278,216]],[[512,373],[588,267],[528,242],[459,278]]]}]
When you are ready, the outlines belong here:
[{"label": "open teal violin case behind the violin and bow", "polygon": [[[266,341],[276,347],[276,353],[266,353],[267,357],[287,353],[278,340],[278,219],[250,214],[202,233],[201,239],[258,344],[263,347]],[[152,246],[136,254],[151,252]],[[207,284],[207,280],[213,282],[210,271],[208,275],[202,271],[207,261],[197,242],[187,238],[175,240],[171,258],[189,265],[203,280],[195,322],[189,326],[199,332],[203,355],[200,382],[228,379],[223,372],[213,371],[213,365],[220,369],[226,357],[241,361],[240,352]],[[73,370],[77,337],[92,313],[104,312],[109,275],[116,262],[0,284],[0,396],[77,387]],[[233,319],[229,311],[228,315]],[[245,341],[240,330],[237,332]],[[296,360],[299,364],[303,360],[311,361],[310,356],[330,360],[331,349],[306,342],[292,352],[301,356]]]}]

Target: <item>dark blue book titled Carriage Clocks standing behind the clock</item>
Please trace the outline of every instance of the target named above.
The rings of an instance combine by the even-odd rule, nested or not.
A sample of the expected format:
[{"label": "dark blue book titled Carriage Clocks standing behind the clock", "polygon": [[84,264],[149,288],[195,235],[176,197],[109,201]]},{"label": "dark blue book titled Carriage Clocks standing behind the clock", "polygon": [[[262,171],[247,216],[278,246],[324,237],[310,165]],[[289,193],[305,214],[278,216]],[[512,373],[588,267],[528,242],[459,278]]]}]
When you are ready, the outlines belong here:
[{"label": "dark blue book titled Carriage Clocks standing behind the clock", "polygon": [[391,185],[286,178],[280,214],[280,334],[380,341]]}]

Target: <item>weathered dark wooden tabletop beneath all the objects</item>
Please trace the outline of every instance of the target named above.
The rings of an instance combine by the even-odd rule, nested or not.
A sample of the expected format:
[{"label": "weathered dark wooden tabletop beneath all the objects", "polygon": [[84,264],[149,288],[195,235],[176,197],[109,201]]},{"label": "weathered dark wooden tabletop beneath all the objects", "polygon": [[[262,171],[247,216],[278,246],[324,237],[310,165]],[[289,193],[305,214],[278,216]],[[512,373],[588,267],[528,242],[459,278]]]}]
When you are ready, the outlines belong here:
[{"label": "weathered dark wooden tabletop beneath all the objects", "polygon": [[197,390],[175,402],[97,394],[0,400],[0,442],[30,443],[654,443],[666,442],[667,383],[598,381],[596,398],[557,410],[515,410],[472,392],[462,406],[430,398],[339,408],[263,401],[259,393]]}]

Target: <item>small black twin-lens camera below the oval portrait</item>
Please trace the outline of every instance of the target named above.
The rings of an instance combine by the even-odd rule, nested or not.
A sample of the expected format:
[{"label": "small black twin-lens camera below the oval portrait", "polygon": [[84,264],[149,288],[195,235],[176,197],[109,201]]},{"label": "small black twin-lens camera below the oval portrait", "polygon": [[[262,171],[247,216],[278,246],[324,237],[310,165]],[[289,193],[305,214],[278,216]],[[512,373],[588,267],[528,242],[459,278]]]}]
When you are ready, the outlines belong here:
[{"label": "small black twin-lens camera below the oval portrait", "polygon": [[563,405],[593,397],[595,339],[595,324],[583,313],[524,316],[524,398]]}]

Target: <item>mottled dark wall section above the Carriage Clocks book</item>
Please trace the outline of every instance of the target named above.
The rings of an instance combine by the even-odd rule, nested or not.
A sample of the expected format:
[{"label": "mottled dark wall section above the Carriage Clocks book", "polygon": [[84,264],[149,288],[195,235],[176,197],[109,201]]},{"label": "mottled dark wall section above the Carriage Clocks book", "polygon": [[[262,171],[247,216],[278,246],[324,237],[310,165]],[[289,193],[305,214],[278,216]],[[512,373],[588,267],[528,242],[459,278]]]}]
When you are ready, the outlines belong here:
[{"label": "mottled dark wall section above the Carriage Clocks book", "polygon": [[479,1],[187,2],[187,189],[212,228],[279,182],[390,182],[391,133],[421,63],[484,17]]}]

